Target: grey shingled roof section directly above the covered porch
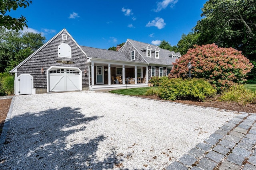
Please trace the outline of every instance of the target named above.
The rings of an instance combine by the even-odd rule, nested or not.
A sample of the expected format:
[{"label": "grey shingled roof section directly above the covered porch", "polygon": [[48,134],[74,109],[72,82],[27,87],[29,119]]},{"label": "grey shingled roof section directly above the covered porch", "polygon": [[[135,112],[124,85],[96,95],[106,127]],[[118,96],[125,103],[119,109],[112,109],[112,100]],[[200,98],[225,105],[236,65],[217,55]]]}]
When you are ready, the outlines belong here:
[{"label": "grey shingled roof section directly above the covered porch", "polygon": [[124,53],[122,52],[106,50],[106,49],[98,49],[93,47],[85,47],[85,46],[80,46],[80,47],[88,55],[88,57],[115,60],[115,61],[128,61],[128,59],[125,57]]}]

